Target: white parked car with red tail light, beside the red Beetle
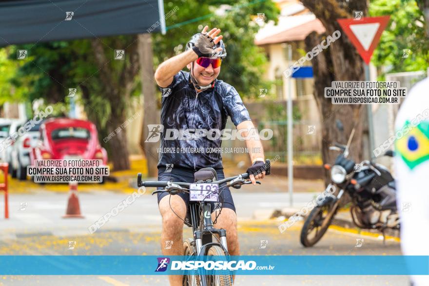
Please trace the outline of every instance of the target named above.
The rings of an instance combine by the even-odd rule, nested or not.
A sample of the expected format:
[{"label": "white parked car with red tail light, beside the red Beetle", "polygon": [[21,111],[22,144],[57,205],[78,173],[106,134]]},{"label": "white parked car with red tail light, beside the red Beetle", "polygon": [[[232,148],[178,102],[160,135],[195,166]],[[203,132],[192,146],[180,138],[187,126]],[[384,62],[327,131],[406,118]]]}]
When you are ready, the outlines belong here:
[{"label": "white parked car with red tail light, beside the red Beetle", "polygon": [[[35,124],[30,130],[26,131],[24,135],[18,136],[11,148],[11,158],[9,169],[20,180],[27,178],[27,166],[30,165],[30,151],[31,146],[37,143],[39,139],[39,128],[43,121]],[[25,124],[25,123],[24,123]],[[18,126],[18,129],[22,126]],[[30,127],[30,126],[29,126]]]}]

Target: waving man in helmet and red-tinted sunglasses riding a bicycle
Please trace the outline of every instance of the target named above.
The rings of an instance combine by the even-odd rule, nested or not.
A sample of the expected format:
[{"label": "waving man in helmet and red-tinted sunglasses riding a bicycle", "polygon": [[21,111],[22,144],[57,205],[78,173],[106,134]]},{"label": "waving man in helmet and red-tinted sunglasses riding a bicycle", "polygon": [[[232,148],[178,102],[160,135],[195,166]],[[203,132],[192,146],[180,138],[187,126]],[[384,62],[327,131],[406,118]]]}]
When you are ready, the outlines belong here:
[{"label": "waving man in helmet and red-tinted sunglasses riding a bicycle", "polygon": [[[186,51],[161,63],[155,72],[156,83],[162,92],[161,144],[158,161],[158,181],[194,182],[194,173],[201,168],[212,167],[217,179],[223,179],[222,158],[219,150],[221,138],[212,136],[213,130],[219,132],[225,128],[226,119],[231,117],[237,128],[237,135],[245,138],[252,161],[247,173],[253,184],[263,179],[264,152],[259,137],[255,134],[254,124],[247,109],[233,86],[216,79],[220,73],[222,59],[226,57],[225,45],[220,29],[209,32],[205,26],[201,33],[195,34],[186,45]],[[182,69],[187,67],[190,72]],[[194,129],[205,131],[190,139],[172,136],[174,131]],[[173,131],[173,132],[172,132]],[[178,132],[180,134],[180,132]],[[256,132],[257,133],[257,132]],[[187,134],[189,135],[189,134]],[[192,135],[192,134],[191,134]],[[162,152],[163,150],[195,150],[195,152]],[[202,150],[203,152],[196,152]],[[237,216],[231,191],[225,188],[220,194],[222,211],[216,213],[212,203],[212,218],[217,229],[227,233],[230,255],[239,255]],[[183,255],[183,220],[186,217],[188,193],[170,195],[158,193],[159,211],[162,216],[161,248],[164,255]],[[172,241],[171,248],[165,249],[166,241]],[[180,275],[170,276],[171,285],[181,285]]]}]

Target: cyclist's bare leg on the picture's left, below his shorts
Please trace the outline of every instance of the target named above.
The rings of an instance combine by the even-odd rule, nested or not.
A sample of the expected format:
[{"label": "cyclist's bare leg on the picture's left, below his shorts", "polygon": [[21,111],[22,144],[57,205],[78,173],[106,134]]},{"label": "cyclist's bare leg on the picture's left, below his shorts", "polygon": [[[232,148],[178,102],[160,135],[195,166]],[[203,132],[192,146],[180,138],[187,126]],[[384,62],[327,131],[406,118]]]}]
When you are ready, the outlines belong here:
[{"label": "cyclist's bare leg on the picture's left, below his shorts", "polygon": [[[170,200],[170,203],[169,203]],[[170,207],[171,204],[171,207]],[[161,249],[164,255],[183,255],[183,220],[185,219],[186,205],[178,195],[166,195],[159,202],[159,212],[162,216]],[[166,241],[173,241],[170,249],[165,249]],[[170,275],[171,286],[182,286],[183,276]]]}]

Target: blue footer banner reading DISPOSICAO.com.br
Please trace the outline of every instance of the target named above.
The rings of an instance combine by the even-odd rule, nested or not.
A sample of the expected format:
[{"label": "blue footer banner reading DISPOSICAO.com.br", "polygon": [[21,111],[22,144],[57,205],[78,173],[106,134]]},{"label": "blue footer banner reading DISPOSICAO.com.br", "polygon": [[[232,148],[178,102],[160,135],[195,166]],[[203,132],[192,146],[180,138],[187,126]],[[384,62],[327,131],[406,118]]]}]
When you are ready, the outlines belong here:
[{"label": "blue footer banner reading DISPOSICAO.com.br", "polygon": [[2,275],[429,275],[429,256],[3,255]]}]

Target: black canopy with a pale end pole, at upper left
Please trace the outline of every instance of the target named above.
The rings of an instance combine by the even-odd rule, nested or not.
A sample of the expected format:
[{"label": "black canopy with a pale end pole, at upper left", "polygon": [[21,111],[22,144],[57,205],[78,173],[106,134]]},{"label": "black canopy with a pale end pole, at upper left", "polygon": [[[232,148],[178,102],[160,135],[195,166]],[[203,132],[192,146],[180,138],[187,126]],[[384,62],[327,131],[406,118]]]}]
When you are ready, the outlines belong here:
[{"label": "black canopy with a pale end pole, at upper left", "polygon": [[165,33],[163,0],[0,0],[0,47],[148,29]]}]

